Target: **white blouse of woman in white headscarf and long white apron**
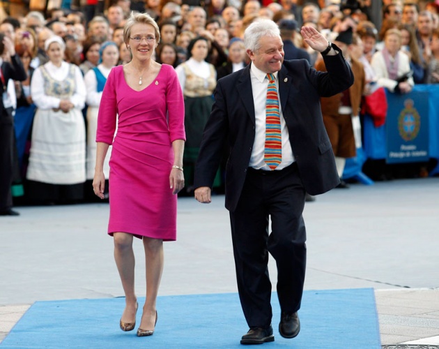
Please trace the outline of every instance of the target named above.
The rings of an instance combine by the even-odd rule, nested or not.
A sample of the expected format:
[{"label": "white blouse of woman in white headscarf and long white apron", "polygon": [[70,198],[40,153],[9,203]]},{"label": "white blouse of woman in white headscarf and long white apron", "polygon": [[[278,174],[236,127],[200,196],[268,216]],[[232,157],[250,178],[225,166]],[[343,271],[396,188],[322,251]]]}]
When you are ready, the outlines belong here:
[{"label": "white blouse of woman in white headscarf and long white apron", "polygon": [[[70,70],[70,64],[62,62],[60,67],[55,66],[52,62],[47,62],[44,67],[47,73],[58,81],[65,80]],[[36,69],[32,75],[31,82],[32,100],[40,109],[56,109],[59,108],[60,98],[54,96],[47,96],[44,91],[44,77],[41,73],[41,67]],[[75,66],[75,93],[70,97],[70,102],[75,105],[75,108],[82,109],[85,105],[86,87],[84,84],[84,77],[82,77],[81,70]]]}]

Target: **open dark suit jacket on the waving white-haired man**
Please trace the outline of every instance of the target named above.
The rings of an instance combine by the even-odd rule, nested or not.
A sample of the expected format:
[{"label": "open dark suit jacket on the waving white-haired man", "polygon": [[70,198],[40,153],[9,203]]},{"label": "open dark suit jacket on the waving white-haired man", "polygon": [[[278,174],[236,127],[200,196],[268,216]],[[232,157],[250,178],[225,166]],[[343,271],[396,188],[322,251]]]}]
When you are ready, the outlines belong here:
[{"label": "open dark suit jacket on the waving white-haired man", "polygon": [[[351,68],[341,53],[326,56],[325,64],[329,73],[318,72],[305,59],[284,61],[279,71],[279,97],[291,147],[302,184],[311,195],[325,193],[339,183],[331,143],[323,125],[320,97],[332,96],[353,84]],[[212,186],[227,137],[226,208],[234,211],[255,138],[250,65],[217,83],[215,103],[195,168],[195,188]]]}]

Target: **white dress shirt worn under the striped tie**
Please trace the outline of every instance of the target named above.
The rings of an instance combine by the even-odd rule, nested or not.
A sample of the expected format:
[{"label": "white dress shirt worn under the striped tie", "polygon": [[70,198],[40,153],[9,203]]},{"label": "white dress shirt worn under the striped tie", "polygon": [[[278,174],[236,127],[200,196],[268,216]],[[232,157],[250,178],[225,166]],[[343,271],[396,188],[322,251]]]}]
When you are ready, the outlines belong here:
[{"label": "white dress shirt worn under the striped tie", "polygon": [[[268,79],[265,79],[267,74],[262,70],[256,68],[254,64],[250,67],[250,79],[252,80],[252,93],[254,101],[254,117],[255,117],[255,137],[252,149],[252,156],[250,157],[249,167],[256,168],[256,170],[268,170],[270,167],[263,160],[265,150],[265,103],[267,101]],[[278,73],[275,74],[277,89],[277,98],[279,99],[279,81],[277,79]],[[288,128],[282,114],[282,107],[279,100],[279,114],[281,119],[282,132],[282,163],[277,166],[276,170],[282,170],[294,162],[293,149],[291,149],[290,136]]]}]

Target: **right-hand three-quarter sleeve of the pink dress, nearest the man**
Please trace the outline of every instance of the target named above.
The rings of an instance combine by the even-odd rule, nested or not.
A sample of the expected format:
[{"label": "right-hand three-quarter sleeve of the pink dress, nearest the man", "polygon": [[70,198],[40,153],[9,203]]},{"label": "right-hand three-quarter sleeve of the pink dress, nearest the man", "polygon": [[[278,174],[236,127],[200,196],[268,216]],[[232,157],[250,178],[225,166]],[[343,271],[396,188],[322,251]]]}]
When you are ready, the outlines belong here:
[{"label": "right-hand three-quarter sleeve of the pink dress, nearest the man", "polygon": [[185,102],[183,100],[183,91],[174,69],[169,69],[166,105],[171,142],[174,142],[174,140],[186,140]]}]

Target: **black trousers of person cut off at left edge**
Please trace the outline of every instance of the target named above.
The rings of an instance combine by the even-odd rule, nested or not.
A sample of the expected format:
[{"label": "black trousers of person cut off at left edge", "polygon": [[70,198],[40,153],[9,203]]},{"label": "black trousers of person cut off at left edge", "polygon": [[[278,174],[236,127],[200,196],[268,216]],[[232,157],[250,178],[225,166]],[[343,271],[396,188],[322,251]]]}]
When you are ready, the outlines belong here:
[{"label": "black trousers of person cut off at left edge", "polygon": [[0,112],[0,211],[13,205],[10,186],[13,179],[13,117]]}]

